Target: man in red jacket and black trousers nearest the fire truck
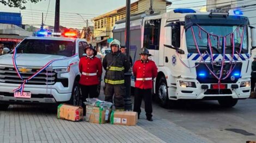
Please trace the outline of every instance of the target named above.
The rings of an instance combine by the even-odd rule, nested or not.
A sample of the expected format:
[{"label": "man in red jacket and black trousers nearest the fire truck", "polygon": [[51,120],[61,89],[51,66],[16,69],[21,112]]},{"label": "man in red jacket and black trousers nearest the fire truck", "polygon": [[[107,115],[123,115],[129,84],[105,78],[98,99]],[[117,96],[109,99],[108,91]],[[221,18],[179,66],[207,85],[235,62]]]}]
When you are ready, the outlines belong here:
[{"label": "man in red jacket and black trousers nearest the fire truck", "polygon": [[145,112],[148,121],[152,119],[152,88],[153,80],[157,76],[157,67],[154,61],[148,60],[149,54],[148,49],[142,48],[141,60],[138,60],[133,65],[133,75],[135,76],[135,98],[133,111],[141,113],[142,99],[145,102]]}]

